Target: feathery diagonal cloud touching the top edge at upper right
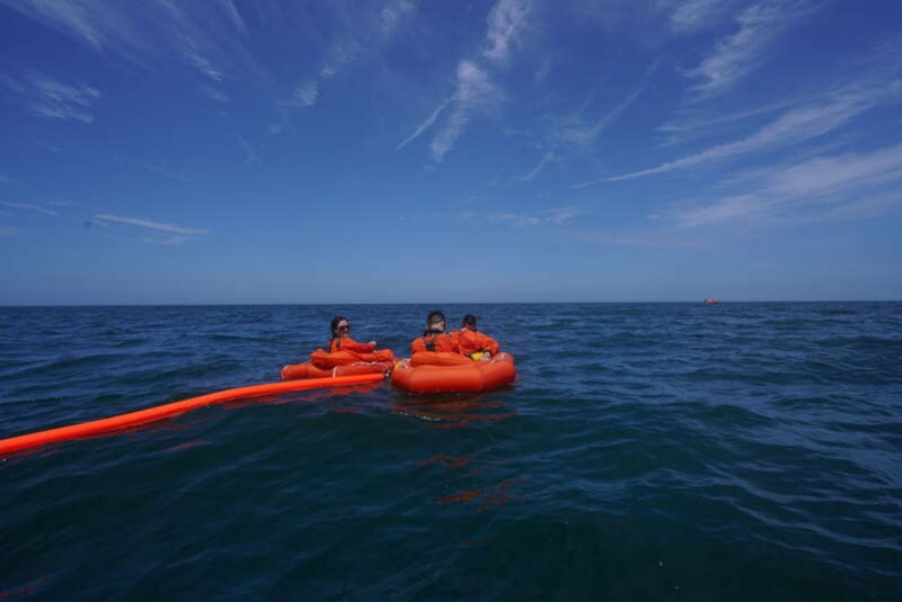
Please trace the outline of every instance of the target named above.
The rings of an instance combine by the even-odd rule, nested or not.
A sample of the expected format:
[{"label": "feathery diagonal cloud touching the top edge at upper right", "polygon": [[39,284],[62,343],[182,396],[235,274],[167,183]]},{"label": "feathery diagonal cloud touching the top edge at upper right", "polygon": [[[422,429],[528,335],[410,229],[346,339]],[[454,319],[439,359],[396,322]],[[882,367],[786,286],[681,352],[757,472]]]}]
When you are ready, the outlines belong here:
[{"label": "feathery diagonal cloud touching the top edge at upper right", "polygon": [[759,68],[771,42],[809,10],[813,9],[805,0],[764,0],[744,10],[738,18],[739,31],[720,41],[713,54],[688,71],[689,77],[702,80],[695,92],[700,96],[722,92]]}]

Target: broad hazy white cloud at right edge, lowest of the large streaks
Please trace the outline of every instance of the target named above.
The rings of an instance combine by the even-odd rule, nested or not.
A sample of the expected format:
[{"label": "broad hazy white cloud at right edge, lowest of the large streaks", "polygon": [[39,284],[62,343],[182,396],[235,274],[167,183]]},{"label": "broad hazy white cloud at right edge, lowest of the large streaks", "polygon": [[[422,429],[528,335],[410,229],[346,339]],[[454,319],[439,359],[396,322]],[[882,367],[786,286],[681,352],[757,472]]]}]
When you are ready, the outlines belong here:
[{"label": "broad hazy white cloud at right edge, lowest of the large streaks", "polygon": [[672,219],[696,227],[777,217],[806,211],[851,219],[902,206],[902,145],[867,153],[816,157],[786,168],[755,173],[759,187],[741,195],[679,209]]}]

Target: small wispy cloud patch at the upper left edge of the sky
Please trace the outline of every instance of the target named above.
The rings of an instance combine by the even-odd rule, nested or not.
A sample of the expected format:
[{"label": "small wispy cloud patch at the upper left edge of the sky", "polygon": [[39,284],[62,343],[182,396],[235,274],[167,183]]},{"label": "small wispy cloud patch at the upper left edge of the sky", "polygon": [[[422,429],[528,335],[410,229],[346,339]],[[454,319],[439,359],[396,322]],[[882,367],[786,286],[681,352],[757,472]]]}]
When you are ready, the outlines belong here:
[{"label": "small wispy cloud patch at the upper left edge of the sky", "polygon": [[38,73],[21,79],[3,76],[0,83],[20,96],[28,111],[34,115],[81,123],[94,121],[91,110],[100,99],[96,88],[64,84]]}]

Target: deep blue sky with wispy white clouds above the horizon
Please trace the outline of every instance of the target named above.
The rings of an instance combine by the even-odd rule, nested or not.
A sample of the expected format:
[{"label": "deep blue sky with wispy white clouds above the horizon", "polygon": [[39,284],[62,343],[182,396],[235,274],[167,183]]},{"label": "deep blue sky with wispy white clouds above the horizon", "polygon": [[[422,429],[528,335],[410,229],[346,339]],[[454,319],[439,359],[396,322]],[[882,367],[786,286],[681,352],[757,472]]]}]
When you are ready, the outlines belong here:
[{"label": "deep blue sky with wispy white clouds above the horizon", "polygon": [[902,299],[897,0],[0,0],[0,305]]}]

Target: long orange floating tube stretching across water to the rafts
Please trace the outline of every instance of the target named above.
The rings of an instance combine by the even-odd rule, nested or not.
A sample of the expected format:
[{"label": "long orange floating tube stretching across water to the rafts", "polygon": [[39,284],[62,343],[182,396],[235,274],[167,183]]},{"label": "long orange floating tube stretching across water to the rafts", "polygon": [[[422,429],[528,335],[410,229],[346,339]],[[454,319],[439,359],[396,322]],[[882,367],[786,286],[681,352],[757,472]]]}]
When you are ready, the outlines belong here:
[{"label": "long orange floating tube stretching across water to the rafts", "polygon": [[59,428],[23,434],[17,437],[10,437],[9,439],[0,439],[0,455],[20,452],[48,443],[111,433],[138,424],[149,423],[154,420],[160,420],[161,418],[179,415],[183,412],[193,410],[196,407],[219,404],[225,401],[232,401],[233,399],[275,395],[277,393],[288,393],[289,391],[300,391],[308,388],[363,385],[365,383],[382,380],[382,378],[381,373],[359,374],[346,377],[330,377],[327,379],[287,380],[284,382],[252,385],[250,387],[228,388],[224,391],[216,391],[216,393],[207,393],[207,395],[202,395],[200,397],[191,397],[190,399],[184,399],[182,401],[174,401],[171,404],[166,404],[164,406],[149,407],[146,410],[138,410],[137,412],[130,412],[129,414],[110,416],[109,418],[92,420],[87,423],[60,426]]}]

